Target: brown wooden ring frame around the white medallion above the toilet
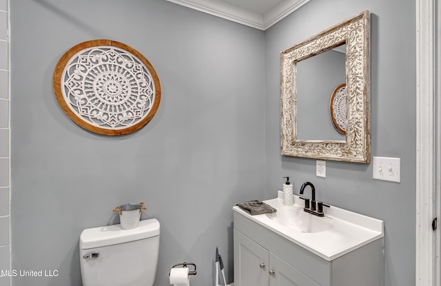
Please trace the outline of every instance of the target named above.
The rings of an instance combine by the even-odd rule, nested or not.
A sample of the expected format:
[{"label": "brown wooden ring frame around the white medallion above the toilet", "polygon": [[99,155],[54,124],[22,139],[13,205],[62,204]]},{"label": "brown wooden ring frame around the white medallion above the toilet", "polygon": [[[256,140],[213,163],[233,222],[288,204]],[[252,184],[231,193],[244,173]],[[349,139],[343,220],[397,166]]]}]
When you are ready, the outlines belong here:
[{"label": "brown wooden ring frame around the white medallion above the toilet", "polygon": [[[145,65],[145,67],[147,67],[153,78],[154,87],[155,87],[155,95],[154,95],[155,97],[152,108],[150,109],[149,113],[147,113],[145,118],[143,118],[143,120],[136,122],[136,124],[129,126],[125,129],[104,129],[98,126],[94,126],[88,122],[85,122],[82,118],[80,118],[70,109],[70,107],[65,102],[63,97],[63,91],[61,89],[61,78],[63,76],[65,65],[70,61],[72,56],[74,56],[81,50],[85,50],[90,47],[99,47],[99,46],[118,47],[122,50],[130,52],[131,54],[139,58],[140,61],[143,62],[143,64]],[[101,40],[85,41],[70,48],[68,52],[65,52],[65,54],[61,56],[59,62],[57,63],[57,66],[55,67],[52,85],[54,88],[55,97],[57,98],[57,101],[60,104],[61,109],[63,109],[66,115],[68,115],[68,117],[77,125],[83,127],[83,129],[101,135],[110,135],[110,136],[125,135],[141,129],[143,126],[145,126],[145,124],[147,124],[148,122],[150,122],[150,120],[152,120],[153,116],[158,110],[159,103],[161,102],[161,84],[159,83],[158,75],[156,74],[156,71],[154,70],[152,64],[150,64],[150,62],[147,60],[147,58],[145,58],[145,56],[143,56],[143,54],[136,51],[134,48],[112,40],[101,39]]]}]

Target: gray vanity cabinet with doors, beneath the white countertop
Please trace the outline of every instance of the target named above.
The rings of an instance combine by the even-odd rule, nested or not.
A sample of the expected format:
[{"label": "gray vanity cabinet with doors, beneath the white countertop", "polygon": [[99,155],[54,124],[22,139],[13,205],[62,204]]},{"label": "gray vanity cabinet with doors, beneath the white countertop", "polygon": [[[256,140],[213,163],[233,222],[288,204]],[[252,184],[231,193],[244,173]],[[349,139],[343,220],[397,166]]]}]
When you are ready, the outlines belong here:
[{"label": "gray vanity cabinet with doors, beneath the white countertop", "polygon": [[234,285],[384,286],[384,237],[327,261],[234,211]]}]

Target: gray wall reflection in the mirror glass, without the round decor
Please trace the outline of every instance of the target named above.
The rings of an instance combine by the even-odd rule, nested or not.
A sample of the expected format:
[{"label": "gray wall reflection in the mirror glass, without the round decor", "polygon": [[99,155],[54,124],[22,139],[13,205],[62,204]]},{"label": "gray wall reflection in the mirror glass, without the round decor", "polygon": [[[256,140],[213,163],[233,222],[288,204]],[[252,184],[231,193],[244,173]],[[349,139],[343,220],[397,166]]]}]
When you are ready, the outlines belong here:
[{"label": "gray wall reflection in the mirror glass, without the round decor", "polygon": [[296,63],[298,140],[346,141],[334,127],[329,100],[346,83],[346,45]]}]

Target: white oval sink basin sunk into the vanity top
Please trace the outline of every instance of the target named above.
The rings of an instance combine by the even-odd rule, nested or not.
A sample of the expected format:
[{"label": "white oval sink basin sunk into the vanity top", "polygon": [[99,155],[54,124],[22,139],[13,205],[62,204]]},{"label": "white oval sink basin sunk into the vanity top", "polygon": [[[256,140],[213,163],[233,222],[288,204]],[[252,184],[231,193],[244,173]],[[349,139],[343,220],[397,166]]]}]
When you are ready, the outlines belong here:
[{"label": "white oval sink basin sunk into the vanity top", "polygon": [[267,217],[299,232],[323,232],[332,228],[331,223],[299,208],[278,208],[277,212],[267,214]]}]

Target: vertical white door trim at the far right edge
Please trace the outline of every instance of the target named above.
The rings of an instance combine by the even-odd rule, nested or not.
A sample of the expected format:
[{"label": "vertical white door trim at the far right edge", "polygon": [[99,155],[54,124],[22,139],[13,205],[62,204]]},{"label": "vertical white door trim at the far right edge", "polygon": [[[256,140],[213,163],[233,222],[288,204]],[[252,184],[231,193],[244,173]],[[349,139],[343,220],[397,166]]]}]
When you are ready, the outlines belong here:
[{"label": "vertical white door trim at the far right edge", "polygon": [[416,285],[434,280],[434,54],[436,0],[416,0]]}]

